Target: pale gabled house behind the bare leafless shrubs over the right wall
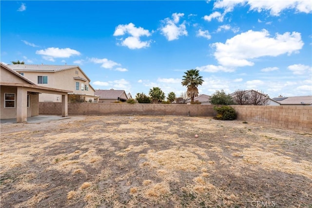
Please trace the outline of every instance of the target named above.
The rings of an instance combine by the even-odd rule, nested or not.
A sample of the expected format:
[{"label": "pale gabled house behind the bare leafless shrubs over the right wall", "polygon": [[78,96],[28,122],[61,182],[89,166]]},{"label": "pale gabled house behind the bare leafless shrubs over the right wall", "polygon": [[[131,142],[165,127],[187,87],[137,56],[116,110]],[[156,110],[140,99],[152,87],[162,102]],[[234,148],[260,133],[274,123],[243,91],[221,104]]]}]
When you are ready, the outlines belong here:
[{"label": "pale gabled house behind the bare leafless shrubs over the right wall", "polygon": [[[241,105],[260,105],[261,103],[265,103],[265,105],[271,105],[271,106],[278,106],[280,105],[278,102],[276,102],[275,100],[271,99],[270,97],[267,97],[267,95],[262,94],[258,91],[255,90],[244,90],[241,91],[243,93],[243,95],[241,95],[241,100],[244,101],[244,104]],[[231,93],[229,94],[233,99],[235,99],[236,93]],[[255,103],[259,103],[259,104],[254,104]],[[240,105],[239,103],[237,103],[238,105]]]}]

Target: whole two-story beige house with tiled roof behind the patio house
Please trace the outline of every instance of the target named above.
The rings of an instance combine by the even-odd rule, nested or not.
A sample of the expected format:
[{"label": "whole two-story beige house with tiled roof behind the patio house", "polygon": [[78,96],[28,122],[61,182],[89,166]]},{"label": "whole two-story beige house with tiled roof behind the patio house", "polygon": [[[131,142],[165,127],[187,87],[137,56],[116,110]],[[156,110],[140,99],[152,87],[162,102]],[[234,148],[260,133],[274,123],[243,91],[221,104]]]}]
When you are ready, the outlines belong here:
[{"label": "whole two-story beige house with tiled roof behind the patio house", "polygon": [[[57,88],[78,95],[82,101],[97,102],[98,96],[94,95],[95,89],[90,85],[90,78],[75,65],[43,65],[43,64],[12,64],[7,65],[10,69],[27,77],[38,86]],[[42,93],[39,102],[61,102],[61,97]]]}]

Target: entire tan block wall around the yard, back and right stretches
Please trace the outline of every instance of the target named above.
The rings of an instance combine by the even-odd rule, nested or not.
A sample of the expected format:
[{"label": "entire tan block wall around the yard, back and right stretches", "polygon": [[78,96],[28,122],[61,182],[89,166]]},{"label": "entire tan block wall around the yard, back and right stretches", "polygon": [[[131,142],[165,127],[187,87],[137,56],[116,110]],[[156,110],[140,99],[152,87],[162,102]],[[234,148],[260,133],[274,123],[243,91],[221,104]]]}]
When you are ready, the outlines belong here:
[{"label": "entire tan block wall around the yard, back and right stretches", "polygon": [[[312,132],[312,106],[232,106],[237,119],[295,131]],[[61,114],[61,103],[40,102],[39,114]],[[68,103],[69,115],[215,116],[213,105]]]}]

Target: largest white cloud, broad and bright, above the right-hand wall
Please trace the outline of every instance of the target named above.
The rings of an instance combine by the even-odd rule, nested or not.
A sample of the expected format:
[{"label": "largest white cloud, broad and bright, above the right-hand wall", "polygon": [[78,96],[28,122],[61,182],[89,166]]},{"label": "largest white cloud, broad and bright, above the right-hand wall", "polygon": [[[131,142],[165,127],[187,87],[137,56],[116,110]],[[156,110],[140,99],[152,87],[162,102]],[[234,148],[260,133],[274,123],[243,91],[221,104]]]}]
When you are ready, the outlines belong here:
[{"label": "largest white cloud, broad and bright, above the right-hand wall", "polygon": [[214,43],[214,56],[222,66],[253,66],[250,59],[264,56],[276,57],[282,54],[297,53],[303,46],[301,34],[286,32],[270,37],[267,30],[253,31],[227,39],[225,43]]}]

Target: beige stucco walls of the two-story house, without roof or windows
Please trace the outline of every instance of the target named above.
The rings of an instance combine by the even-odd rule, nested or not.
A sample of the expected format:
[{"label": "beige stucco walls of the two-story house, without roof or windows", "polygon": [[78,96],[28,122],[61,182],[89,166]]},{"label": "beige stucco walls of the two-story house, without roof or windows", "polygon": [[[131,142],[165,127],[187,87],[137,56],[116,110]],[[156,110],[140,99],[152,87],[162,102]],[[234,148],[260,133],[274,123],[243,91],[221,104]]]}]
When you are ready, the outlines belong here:
[{"label": "beige stucco walls of the two-story house, without roof or windows", "polygon": [[[78,74],[76,74],[78,71]],[[21,72],[18,71],[17,72]],[[61,90],[70,90],[73,91],[74,94],[79,95],[90,95],[94,96],[94,90],[89,86],[89,90],[81,90],[81,84],[90,85],[86,76],[79,70],[79,68],[73,68],[68,70],[63,70],[59,72],[22,72],[24,76],[28,79],[32,80],[34,83],[38,84],[38,76],[48,76],[48,84],[38,84],[39,86],[56,88]],[[86,79],[79,80],[74,79],[74,77],[81,77]],[[79,82],[79,90],[76,90],[76,82]],[[91,98],[91,97],[90,97]],[[93,99],[93,97],[92,97]],[[87,101],[89,98],[87,99]],[[39,95],[40,102],[61,102],[61,95],[52,95],[52,94],[40,94]]]}]

